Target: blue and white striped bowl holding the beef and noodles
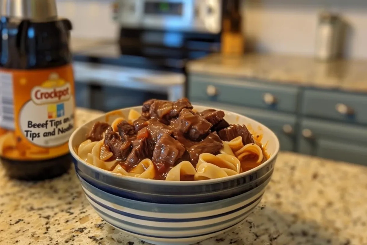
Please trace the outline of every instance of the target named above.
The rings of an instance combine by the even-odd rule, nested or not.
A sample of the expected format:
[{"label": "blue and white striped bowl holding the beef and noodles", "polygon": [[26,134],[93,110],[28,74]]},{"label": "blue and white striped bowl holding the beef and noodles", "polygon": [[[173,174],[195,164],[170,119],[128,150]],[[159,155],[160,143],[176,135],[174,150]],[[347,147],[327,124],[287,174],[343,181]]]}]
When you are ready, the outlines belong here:
[{"label": "blue and white striped bowl holding the beef and noodles", "polygon": [[[141,107],[119,111],[128,115],[130,109],[140,111]],[[110,225],[157,245],[193,244],[241,223],[261,201],[274,170],[279,141],[264,125],[233,112],[225,113],[229,123],[250,125],[262,134],[270,158],[245,173],[214,180],[121,177],[88,165],[74,149],[86,140],[94,122],[111,123],[116,116],[106,120],[103,115],[79,127],[70,137],[69,148],[86,197],[98,215]]]}]

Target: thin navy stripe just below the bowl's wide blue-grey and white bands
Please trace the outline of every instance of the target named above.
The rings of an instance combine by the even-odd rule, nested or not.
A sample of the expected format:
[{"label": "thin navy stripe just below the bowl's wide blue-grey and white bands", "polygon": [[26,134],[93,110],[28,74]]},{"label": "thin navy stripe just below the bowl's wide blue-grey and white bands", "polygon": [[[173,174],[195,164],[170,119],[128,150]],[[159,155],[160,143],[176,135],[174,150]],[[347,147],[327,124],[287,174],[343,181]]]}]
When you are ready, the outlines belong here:
[{"label": "thin navy stripe just below the bowl's wide blue-grey and white bands", "polygon": [[[212,215],[212,216],[206,216],[206,217],[200,217],[200,218],[191,218],[191,219],[167,219],[167,218],[158,218],[158,217],[147,217],[147,216],[141,216],[141,215],[134,215],[132,213],[127,213],[127,212],[123,212],[121,210],[117,210],[117,209],[114,209],[110,206],[107,206],[97,200],[95,200],[94,198],[92,198],[90,195],[88,195],[86,193],[87,197],[89,199],[91,199],[93,202],[97,203],[99,206],[113,212],[113,213],[118,213],[120,215],[123,215],[123,216],[126,216],[126,217],[130,217],[132,219],[139,219],[139,220],[147,220],[147,221],[154,221],[154,222],[168,222],[168,223],[183,223],[183,222],[193,222],[193,221],[203,221],[203,220],[210,220],[210,219],[215,219],[215,218],[218,218],[218,217],[222,217],[222,216],[226,216],[226,215],[230,215],[232,213],[236,213],[240,210],[243,210],[245,208],[247,208],[248,206],[250,206],[251,204],[257,202],[259,199],[262,198],[262,194],[257,197],[255,200],[247,203],[246,205],[243,205],[239,208],[236,208],[236,209],[233,209],[233,210],[230,210],[228,212],[225,212],[225,213],[221,213],[221,214],[218,214],[218,215]],[[179,207],[177,207],[179,208]]]}]

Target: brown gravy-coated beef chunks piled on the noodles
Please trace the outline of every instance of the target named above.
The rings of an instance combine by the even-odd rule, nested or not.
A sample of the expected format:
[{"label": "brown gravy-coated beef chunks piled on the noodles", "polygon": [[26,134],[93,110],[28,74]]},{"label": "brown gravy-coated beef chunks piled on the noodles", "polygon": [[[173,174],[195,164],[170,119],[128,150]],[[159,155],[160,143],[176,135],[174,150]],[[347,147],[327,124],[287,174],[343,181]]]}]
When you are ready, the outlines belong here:
[{"label": "brown gravy-coated beef chunks piled on the noodles", "polygon": [[[110,112],[108,116],[121,115]],[[176,102],[149,100],[143,104],[142,116],[135,122],[121,121],[115,132],[105,123],[96,122],[87,134],[92,141],[103,138],[104,147],[127,172],[142,159],[152,159],[156,180],[165,180],[167,173],[182,161],[190,161],[195,167],[201,153],[219,154],[223,141],[242,136],[244,144],[253,143],[254,138],[244,125],[229,125],[223,111],[208,109],[194,112],[187,99]],[[263,148],[262,148],[263,149]],[[264,152],[263,162],[267,155]],[[257,167],[256,158],[249,156],[241,161],[243,172]],[[112,168],[112,169],[113,169]],[[183,175],[183,181],[192,181],[194,176]]]}]

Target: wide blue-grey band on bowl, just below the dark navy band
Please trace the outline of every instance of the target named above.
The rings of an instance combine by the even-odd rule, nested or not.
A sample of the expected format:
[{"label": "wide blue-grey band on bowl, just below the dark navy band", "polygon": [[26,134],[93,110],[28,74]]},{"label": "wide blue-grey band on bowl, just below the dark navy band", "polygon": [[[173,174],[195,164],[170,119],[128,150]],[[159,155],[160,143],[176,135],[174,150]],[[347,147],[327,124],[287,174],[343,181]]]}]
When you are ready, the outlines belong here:
[{"label": "wide blue-grey band on bowl, just below the dark navy band", "polygon": [[264,191],[266,185],[269,183],[270,178],[268,178],[264,183],[259,185],[258,187],[240,194],[236,197],[224,199],[221,201],[214,201],[214,202],[207,202],[207,203],[196,203],[196,204],[184,204],[180,205],[179,209],[177,205],[174,204],[160,204],[156,203],[152,205],[149,202],[140,202],[140,201],[133,201],[127,198],[118,197],[116,195],[109,194],[105,191],[99,190],[95,188],[93,185],[89,184],[87,181],[83,180],[79,175],[79,180],[83,188],[89,191],[91,194],[95,195],[98,198],[101,198],[104,201],[114,203],[115,205],[121,205],[124,208],[130,208],[138,211],[144,212],[152,212],[153,214],[156,213],[198,213],[198,212],[206,212],[208,210],[215,210],[221,208],[227,208],[231,205],[235,205],[237,203],[245,202],[250,198],[257,195],[259,192]]}]

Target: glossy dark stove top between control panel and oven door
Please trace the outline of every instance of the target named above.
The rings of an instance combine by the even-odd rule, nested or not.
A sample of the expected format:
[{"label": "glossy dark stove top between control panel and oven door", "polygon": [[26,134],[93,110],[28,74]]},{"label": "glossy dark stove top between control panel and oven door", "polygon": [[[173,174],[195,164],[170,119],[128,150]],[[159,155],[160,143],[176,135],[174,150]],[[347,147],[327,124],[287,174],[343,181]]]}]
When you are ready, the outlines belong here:
[{"label": "glossy dark stove top between control panel and oven door", "polygon": [[116,43],[74,53],[75,61],[184,72],[188,60],[220,49],[220,35],[146,29],[121,29]]}]

